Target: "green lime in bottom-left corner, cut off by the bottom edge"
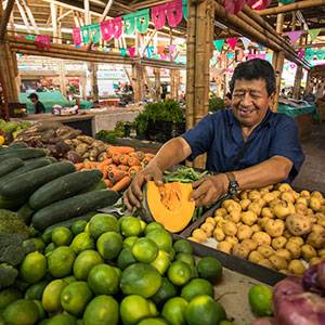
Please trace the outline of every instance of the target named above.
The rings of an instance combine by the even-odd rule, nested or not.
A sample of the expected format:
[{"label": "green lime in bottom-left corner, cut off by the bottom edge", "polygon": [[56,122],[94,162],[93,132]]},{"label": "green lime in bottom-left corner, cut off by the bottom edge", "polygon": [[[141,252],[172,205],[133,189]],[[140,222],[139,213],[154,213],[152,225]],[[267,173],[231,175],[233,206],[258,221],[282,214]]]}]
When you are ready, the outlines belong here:
[{"label": "green lime in bottom-left corner, cut off by the bottom edge", "polygon": [[27,299],[18,299],[4,309],[2,316],[6,324],[32,325],[39,318],[36,303]]}]

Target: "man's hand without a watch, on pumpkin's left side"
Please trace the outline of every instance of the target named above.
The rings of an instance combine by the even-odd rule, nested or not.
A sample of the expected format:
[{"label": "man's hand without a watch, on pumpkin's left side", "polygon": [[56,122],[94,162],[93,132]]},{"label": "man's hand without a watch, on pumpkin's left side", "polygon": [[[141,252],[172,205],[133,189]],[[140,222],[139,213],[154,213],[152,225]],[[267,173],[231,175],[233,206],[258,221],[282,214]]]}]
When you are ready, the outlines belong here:
[{"label": "man's hand without a watch, on pumpkin's left side", "polygon": [[162,185],[162,172],[155,162],[151,162],[146,168],[135,174],[132,183],[123,194],[123,202],[128,210],[132,207],[141,208],[142,186],[147,181],[154,181],[158,186]]}]

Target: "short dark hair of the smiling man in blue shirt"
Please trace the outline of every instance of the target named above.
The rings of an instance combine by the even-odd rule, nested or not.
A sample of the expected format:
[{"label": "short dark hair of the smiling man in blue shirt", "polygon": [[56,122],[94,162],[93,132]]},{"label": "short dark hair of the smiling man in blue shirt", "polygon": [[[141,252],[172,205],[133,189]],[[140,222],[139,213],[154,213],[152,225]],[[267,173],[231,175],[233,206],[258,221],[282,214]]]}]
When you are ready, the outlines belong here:
[{"label": "short dark hair of the smiling man in blue shirt", "polygon": [[238,64],[230,82],[231,93],[233,93],[235,82],[238,79],[262,79],[266,82],[266,91],[269,95],[271,95],[275,91],[275,72],[271,63],[265,60],[253,58]]}]

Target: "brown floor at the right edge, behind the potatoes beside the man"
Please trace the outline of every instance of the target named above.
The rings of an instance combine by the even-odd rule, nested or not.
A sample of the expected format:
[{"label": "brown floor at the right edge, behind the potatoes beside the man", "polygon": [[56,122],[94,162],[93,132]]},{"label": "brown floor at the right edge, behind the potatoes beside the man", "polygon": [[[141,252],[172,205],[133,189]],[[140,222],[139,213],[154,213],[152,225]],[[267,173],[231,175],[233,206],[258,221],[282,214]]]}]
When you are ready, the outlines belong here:
[{"label": "brown floor at the right edge, behind the potatoes beside the man", "polygon": [[325,121],[313,125],[311,139],[301,145],[306,160],[294,181],[294,187],[325,193]]}]

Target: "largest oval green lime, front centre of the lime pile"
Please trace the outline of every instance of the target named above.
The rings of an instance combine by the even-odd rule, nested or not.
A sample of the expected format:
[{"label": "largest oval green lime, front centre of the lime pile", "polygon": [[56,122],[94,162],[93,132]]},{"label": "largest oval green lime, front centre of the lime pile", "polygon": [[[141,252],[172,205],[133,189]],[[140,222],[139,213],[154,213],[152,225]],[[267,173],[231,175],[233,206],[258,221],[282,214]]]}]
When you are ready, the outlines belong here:
[{"label": "largest oval green lime, front centre of the lime pile", "polygon": [[148,298],[154,296],[160,286],[161,276],[150,264],[132,264],[121,274],[120,288],[125,295],[140,295]]}]

